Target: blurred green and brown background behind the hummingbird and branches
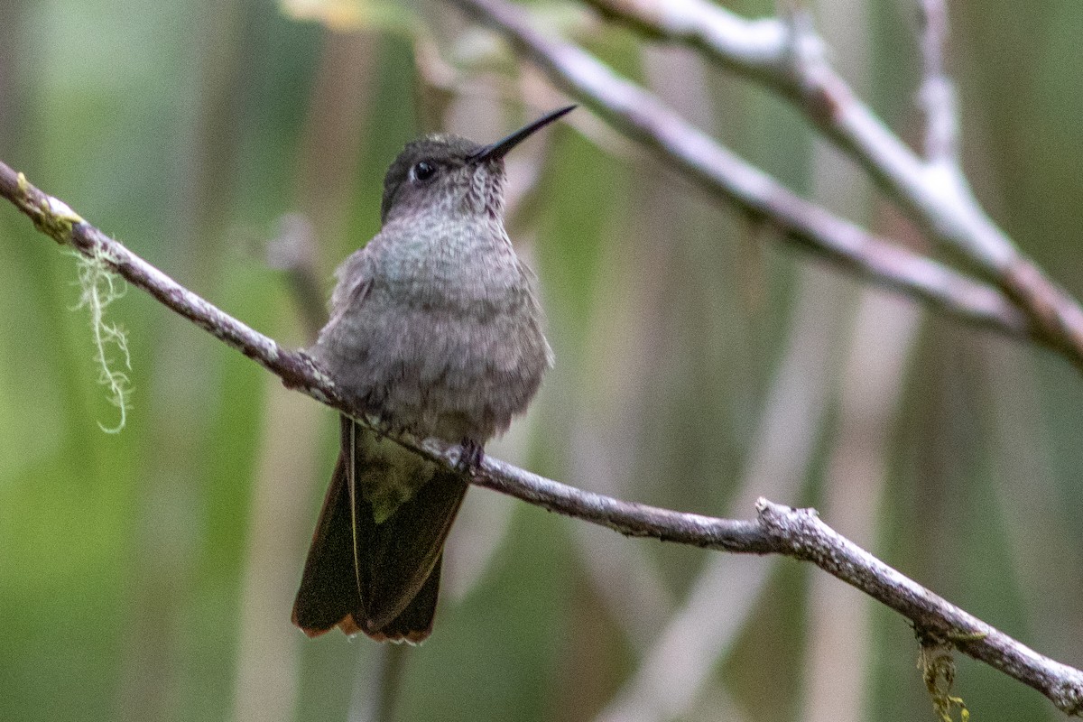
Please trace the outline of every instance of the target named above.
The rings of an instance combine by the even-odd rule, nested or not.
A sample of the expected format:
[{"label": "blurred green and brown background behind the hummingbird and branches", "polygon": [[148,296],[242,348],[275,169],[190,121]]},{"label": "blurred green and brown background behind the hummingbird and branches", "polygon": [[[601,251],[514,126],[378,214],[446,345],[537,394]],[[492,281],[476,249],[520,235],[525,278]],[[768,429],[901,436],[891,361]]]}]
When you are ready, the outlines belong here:
[{"label": "blurred green and brown background behind the hummingbird and branches", "polygon": [[[810,6],[844,75],[918,139],[915,3]],[[1083,3],[950,6],[966,170],[1079,297]],[[582,5],[531,10],[791,187],[928,250],[782,102]],[[407,140],[495,140],[562,102],[439,2],[0,2],[0,159],[287,344],[319,323],[297,270],[329,292]],[[491,452],[705,514],[815,506],[1083,665],[1077,369],[786,250],[587,110],[513,161],[509,226],[558,366]],[[129,334],[131,409],[103,433],[117,409],[76,278],[0,208],[0,719],[369,719],[395,691],[403,720],[932,719],[912,630],[841,582],[478,489],[429,642],[306,640],[289,612],[335,415],[130,290],[107,316]],[[955,692],[983,722],[1059,717],[967,658]]]}]

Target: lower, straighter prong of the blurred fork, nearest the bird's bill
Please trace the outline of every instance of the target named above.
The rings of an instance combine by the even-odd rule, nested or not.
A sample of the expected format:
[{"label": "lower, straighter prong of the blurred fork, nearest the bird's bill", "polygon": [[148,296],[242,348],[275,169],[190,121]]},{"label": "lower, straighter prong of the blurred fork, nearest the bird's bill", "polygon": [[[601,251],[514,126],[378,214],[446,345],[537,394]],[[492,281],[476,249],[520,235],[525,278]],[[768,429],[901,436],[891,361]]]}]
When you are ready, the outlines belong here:
[{"label": "lower, straighter prong of the blurred fork, nearest the bird's bill", "polygon": [[[538,65],[556,84],[623,133],[660,152],[691,180],[778,228],[799,247],[967,323],[1054,347],[1083,366],[1083,315],[1079,323],[1079,343],[1069,342],[1061,326],[1052,321],[1035,323],[996,289],[874,236],[792,193],[580,48],[544,37],[526,22],[519,9],[503,0],[448,1],[501,31],[518,53]],[[756,38],[765,36],[761,30],[759,26],[749,28],[752,37]],[[766,35],[772,37],[770,32]],[[742,42],[752,53],[748,41]],[[884,132],[887,133],[886,129]],[[901,144],[900,148],[909,153]],[[1028,278],[1010,288],[1032,291],[1030,302],[1023,307],[1045,310],[1047,313],[1036,315],[1046,320],[1061,312],[1066,317],[1071,315],[1070,309],[1062,303],[1043,305],[1042,301],[1052,298],[1049,294],[1055,289],[1042,286],[1044,276],[1032,263],[1020,263],[1014,275],[1029,274]],[[1005,277],[1006,285],[1010,277]],[[1044,290],[1035,290],[1039,287]],[[1064,297],[1060,291],[1057,293]]]}]

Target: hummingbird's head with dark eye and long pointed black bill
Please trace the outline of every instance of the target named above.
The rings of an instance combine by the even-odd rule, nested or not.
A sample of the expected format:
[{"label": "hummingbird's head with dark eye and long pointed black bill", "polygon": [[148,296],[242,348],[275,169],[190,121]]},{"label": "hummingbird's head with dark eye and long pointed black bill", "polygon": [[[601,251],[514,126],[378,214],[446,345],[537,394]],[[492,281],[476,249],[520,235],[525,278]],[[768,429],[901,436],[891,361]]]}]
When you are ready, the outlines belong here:
[{"label": "hummingbird's head with dark eye and long pointed black bill", "polygon": [[438,133],[408,143],[383,179],[380,222],[400,213],[504,214],[504,156],[569,105],[490,145]]}]

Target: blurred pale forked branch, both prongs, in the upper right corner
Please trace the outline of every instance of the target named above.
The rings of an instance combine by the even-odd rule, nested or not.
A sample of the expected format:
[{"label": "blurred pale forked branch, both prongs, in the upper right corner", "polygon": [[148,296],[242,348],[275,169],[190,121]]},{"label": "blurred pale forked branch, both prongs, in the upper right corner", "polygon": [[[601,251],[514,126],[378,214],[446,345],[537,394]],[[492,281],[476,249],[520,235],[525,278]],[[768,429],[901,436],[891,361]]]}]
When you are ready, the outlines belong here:
[{"label": "blurred pale forked branch, both prongs, in the upper right corner", "polygon": [[[987,296],[988,286],[893,247],[800,198],[583,49],[545,37],[521,9],[505,0],[447,1],[500,31],[517,54],[614,128],[660,152],[712,193],[769,221],[790,240],[971,323],[1006,331],[1005,314],[1019,313],[1027,321],[1013,328],[1026,328],[1028,338],[1083,368],[1083,309],[992,222],[957,163],[924,162],[858,99],[827,63],[822,40],[800,11],[786,22],[746,21],[706,0],[587,0],[606,17],[652,38],[695,48],[793,102],[931,238],[962,250],[995,279],[1007,299],[994,294],[994,300]],[[887,257],[889,264],[879,263]],[[967,302],[973,298],[954,292],[963,288],[965,297],[971,291],[982,297],[980,311]],[[999,310],[991,312],[987,304]]]}]

